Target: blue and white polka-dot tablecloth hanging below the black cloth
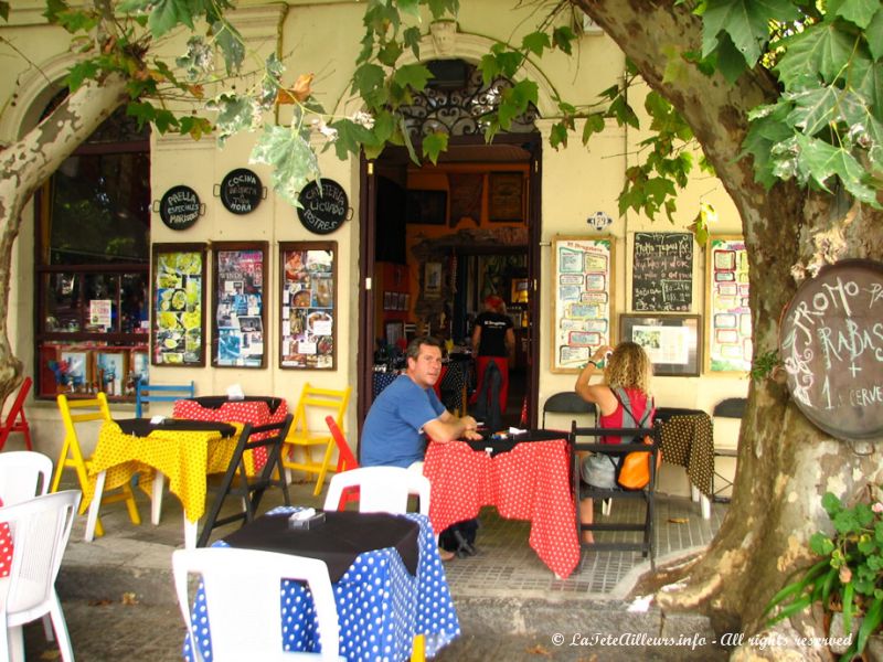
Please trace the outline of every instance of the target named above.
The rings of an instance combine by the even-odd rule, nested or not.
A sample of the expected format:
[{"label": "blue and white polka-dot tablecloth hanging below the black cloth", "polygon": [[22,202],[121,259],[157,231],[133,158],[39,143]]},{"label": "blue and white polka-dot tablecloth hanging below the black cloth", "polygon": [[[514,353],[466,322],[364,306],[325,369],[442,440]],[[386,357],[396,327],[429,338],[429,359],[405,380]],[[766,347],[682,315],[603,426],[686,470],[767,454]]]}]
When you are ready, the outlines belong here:
[{"label": "blue and white polka-dot tablecloth hanging below the black cloth", "polygon": [[[292,512],[279,506],[267,514]],[[426,655],[434,656],[460,634],[460,623],[450,598],[445,568],[438,557],[428,517],[403,515],[419,524],[419,560],[411,575],[394,547],[357,556],[352,566],[333,584],[340,623],[340,654],[347,660],[394,662],[411,658],[415,634],[424,634]],[[215,545],[227,546],[223,541]],[[193,637],[204,660],[212,660],[211,615],[200,584],[192,612]],[[316,634],[312,598],[298,581],[281,583],[280,627],[286,651],[320,650]],[[191,639],[183,655],[193,661]]]}]

